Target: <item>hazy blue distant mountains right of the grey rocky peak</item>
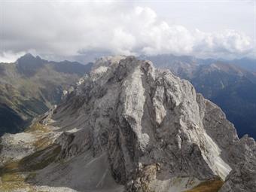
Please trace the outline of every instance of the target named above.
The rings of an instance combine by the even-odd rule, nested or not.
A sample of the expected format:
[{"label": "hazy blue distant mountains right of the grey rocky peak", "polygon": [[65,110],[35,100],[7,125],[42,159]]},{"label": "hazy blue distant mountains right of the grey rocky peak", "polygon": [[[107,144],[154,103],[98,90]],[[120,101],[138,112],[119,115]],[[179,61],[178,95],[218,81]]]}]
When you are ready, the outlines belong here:
[{"label": "hazy blue distant mountains right of the grey rocky peak", "polygon": [[140,56],[190,81],[206,99],[219,105],[240,137],[256,138],[256,60],[197,59],[192,56]]}]

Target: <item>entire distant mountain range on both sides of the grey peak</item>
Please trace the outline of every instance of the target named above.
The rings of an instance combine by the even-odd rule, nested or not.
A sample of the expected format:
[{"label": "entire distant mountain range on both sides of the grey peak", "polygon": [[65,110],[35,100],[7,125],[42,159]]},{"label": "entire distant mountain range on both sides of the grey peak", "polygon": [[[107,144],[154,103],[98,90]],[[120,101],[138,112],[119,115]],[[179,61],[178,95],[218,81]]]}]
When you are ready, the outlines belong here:
[{"label": "entire distant mountain range on both sides of the grey peak", "polygon": [[[92,58],[80,58],[92,60]],[[256,62],[254,59],[199,59],[194,56],[139,56],[170,69],[219,105],[239,136],[256,138]],[[53,62],[26,54],[14,63],[0,63],[0,136],[17,133],[75,85],[93,63]]]}]

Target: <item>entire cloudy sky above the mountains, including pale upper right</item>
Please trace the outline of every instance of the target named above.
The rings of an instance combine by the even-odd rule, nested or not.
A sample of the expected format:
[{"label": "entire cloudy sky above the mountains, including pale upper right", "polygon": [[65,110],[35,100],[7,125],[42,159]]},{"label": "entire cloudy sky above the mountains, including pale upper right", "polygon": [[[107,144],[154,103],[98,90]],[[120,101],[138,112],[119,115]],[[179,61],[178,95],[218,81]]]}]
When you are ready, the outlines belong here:
[{"label": "entire cloudy sky above the mountains, including pale upper right", "polygon": [[256,58],[256,1],[0,0],[0,62],[88,51]]}]

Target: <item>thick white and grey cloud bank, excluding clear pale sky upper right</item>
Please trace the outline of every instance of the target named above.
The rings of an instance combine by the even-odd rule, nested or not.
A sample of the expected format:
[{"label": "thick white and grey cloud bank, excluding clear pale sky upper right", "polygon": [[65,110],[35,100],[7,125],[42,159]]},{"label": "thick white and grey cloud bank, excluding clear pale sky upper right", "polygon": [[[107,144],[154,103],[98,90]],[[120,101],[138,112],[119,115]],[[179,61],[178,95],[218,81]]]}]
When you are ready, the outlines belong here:
[{"label": "thick white and grey cloud bank, excluding clear pale sky upper right", "polygon": [[[11,53],[64,55],[99,50],[114,54],[246,56],[255,49],[243,32],[189,30],[154,10],[129,2],[1,2],[0,59]],[[170,13],[171,14],[171,13]]]}]

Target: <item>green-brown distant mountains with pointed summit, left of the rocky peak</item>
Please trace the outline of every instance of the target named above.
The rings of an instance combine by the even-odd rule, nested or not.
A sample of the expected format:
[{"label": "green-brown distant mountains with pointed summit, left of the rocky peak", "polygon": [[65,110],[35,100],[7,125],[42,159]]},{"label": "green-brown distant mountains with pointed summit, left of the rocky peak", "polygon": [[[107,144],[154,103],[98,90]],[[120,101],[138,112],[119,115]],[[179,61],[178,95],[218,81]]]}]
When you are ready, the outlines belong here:
[{"label": "green-brown distant mountains with pointed summit, left of the rocky peak", "polygon": [[14,63],[0,62],[0,136],[17,133],[38,114],[59,103],[92,64],[52,62],[28,53]]}]

